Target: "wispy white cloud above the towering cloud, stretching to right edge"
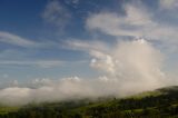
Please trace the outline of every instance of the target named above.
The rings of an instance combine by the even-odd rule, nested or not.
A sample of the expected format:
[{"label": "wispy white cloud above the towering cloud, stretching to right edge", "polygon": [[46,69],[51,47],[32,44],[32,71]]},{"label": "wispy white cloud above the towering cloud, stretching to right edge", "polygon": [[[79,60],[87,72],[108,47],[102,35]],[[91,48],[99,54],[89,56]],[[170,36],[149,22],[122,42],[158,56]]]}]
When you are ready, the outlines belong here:
[{"label": "wispy white cloud above the towering cloud, stretching to right edge", "polygon": [[115,37],[146,37],[149,40],[178,43],[178,28],[156,21],[155,14],[144,4],[127,3],[125,12],[125,16],[105,11],[90,14],[86,21],[86,28]]}]

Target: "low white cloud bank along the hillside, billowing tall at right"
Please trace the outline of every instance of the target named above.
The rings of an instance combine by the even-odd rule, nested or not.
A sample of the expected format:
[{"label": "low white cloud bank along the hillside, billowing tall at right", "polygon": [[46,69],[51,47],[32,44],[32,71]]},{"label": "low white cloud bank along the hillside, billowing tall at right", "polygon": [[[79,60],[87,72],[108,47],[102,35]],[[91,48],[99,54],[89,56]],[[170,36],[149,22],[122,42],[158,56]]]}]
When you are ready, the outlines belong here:
[{"label": "low white cloud bank along the hillside, billowing tall at right", "polygon": [[123,97],[167,85],[161,71],[161,53],[144,39],[119,42],[108,51],[92,47],[83,51],[92,57],[90,66],[102,71],[103,76],[91,79],[36,79],[30,87],[16,85],[1,89],[0,102],[26,105],[105,96]]}]

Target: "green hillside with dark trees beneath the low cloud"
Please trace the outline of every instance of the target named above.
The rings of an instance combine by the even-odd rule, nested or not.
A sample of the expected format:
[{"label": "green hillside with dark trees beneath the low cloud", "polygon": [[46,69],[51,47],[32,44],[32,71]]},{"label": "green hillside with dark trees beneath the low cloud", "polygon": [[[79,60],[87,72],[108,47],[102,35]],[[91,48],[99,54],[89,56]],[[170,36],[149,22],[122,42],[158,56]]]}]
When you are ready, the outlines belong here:
[{"label": "green hillside with dark trees beneath the low cloud", "polygon": [[44,102],[23,107],[1,107],[0,118],[178,118],[178,87],[167,87],[136,96],[96,101]]}]

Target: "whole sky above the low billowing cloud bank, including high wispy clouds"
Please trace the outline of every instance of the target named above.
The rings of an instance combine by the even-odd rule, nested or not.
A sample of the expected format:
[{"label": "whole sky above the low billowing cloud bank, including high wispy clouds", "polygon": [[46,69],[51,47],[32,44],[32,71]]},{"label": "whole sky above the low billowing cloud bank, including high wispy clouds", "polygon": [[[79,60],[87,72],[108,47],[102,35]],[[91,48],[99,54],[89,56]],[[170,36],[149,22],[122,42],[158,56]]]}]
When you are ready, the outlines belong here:
[{"label": "whole sky above the low billowing cloud bank, including high wispy clouds", "polygon": [[0,80],[102,76],[93,51],[110,56],[116,42],[138,38],[175,70],[177,12],[176,0],[1,0]]}]

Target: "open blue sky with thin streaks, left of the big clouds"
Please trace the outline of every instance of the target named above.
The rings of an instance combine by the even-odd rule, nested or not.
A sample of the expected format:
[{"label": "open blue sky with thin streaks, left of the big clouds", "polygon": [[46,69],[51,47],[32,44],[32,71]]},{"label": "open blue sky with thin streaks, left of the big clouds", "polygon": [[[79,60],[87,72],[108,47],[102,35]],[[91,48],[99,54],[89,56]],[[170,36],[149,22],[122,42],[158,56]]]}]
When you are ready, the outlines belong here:
[{"label": "open blue sky with thin streaks, left of the big clouds", "polygon": [[67,48],[66,41],[95,40],[86,29],[87,18],[101,9],[118,9],[115,2],[120,4],[100,0],[1,0],[1,81],[97,76],[88,65],[90,57]]}]

